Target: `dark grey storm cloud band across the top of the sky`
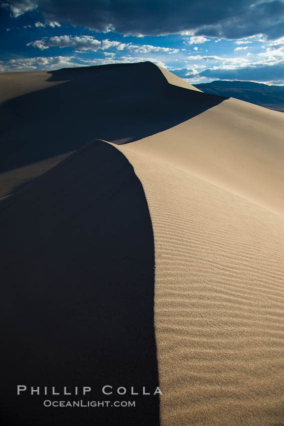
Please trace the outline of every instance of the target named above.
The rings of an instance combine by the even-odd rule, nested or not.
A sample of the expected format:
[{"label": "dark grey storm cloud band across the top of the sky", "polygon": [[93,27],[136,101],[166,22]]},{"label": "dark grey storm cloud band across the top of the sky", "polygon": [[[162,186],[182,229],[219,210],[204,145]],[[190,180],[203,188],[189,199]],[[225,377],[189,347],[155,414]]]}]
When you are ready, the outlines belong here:
[{"label": "dark grey storm cloud band across the top of the sky", "polygon": [[[36,5],[45,20],[121,34],[160,35],[197,31],[199,35],[242,38],[259,33],[284,35],[283,0],[7,0],[14,16]],[[255,4],[256,3],[256,4]]]}]

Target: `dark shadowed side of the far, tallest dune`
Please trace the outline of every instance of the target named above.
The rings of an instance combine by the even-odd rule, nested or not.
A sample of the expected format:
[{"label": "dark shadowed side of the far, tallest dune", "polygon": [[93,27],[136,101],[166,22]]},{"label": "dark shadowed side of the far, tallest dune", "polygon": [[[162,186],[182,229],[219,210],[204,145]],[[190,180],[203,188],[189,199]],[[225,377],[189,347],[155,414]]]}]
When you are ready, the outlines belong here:
[{"label": "dark shadowed side of the far, tallest dune", "polygon": [[73,151],[94,138],[132,142],[227,99],[170,85],[150,62],[66,68],[50,71],[48,81],[59,84],[1,106],[0,172]]}]

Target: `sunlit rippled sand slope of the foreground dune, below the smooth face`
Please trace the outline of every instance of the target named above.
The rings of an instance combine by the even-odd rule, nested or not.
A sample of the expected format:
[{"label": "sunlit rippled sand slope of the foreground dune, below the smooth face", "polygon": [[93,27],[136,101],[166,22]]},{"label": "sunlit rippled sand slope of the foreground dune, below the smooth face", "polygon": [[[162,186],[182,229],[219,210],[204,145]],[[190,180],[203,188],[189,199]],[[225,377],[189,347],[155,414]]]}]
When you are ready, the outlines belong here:
[{"label": "sunlit rippled sand slope of the foreground dune, below the smooth face", "polygon": [[119,149],[153,224],[161,424],[283,424],[283,218]]}]

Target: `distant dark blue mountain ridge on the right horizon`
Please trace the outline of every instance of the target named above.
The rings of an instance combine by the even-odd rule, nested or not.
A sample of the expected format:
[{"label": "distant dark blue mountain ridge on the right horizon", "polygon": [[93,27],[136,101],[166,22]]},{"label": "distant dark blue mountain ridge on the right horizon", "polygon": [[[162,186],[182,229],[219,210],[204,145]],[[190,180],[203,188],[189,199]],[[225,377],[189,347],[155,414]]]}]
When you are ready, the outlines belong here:
[{"label": "distant dark blue mountain ridge on the right horizon", "polygon": [[268,86],[251,81],[212,81],[195,84],[195,87],[212,95],[229,96],[284,112],[284,86]]}]

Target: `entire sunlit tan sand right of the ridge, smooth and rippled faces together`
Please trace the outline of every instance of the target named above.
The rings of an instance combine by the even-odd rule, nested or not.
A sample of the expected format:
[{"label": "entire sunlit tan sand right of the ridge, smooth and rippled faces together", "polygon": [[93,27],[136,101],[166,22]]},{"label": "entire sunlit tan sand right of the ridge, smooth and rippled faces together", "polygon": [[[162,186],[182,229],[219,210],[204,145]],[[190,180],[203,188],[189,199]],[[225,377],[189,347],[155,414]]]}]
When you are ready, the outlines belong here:
[{"label": "entire sunlit tan sand right of the ridge, smooth and rippled faces together", "polygon": [[153,223],[163,425],[284,418],[283,130],[228,99],[119,147]]}]

